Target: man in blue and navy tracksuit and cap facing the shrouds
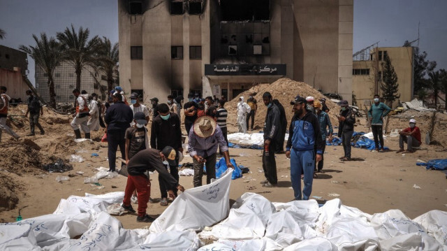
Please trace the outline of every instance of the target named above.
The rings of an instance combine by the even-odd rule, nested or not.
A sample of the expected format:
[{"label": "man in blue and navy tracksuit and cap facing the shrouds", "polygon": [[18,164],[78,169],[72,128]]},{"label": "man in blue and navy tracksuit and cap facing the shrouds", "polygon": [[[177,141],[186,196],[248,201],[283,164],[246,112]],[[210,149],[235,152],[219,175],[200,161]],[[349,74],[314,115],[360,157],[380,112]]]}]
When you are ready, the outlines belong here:
[{"label": "man in blue and navy tracksuit and cap facing the shrouds", "polygon": [[[295,200],[308,200],[312,193],[315,162],[323,155],[323,139],[317,117],[307,110],[306,99],[298,96],[292,101],[295,116],[289,127],[286,157],[291,159],[291,182]],[[301,192],[301,174],[304,187]]]}]

